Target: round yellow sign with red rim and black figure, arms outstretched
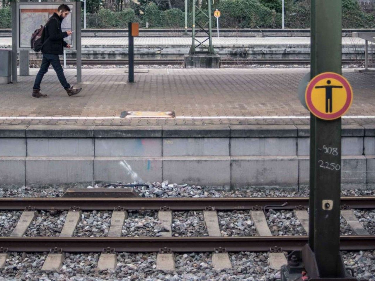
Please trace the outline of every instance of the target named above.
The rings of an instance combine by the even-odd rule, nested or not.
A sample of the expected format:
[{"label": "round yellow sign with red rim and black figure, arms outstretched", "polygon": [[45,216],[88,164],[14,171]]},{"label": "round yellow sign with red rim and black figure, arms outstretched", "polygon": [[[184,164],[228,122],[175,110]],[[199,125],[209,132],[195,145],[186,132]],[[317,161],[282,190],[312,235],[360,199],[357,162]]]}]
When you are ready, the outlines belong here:
[{"label": "round yellow sign with red rim and black figure, arms outstretched", "polygon": [[333,120],[349,110],[353,102],[353,90],[343,76],[324,72],[310,81],[305,99],[312,114],[321,119]]}]

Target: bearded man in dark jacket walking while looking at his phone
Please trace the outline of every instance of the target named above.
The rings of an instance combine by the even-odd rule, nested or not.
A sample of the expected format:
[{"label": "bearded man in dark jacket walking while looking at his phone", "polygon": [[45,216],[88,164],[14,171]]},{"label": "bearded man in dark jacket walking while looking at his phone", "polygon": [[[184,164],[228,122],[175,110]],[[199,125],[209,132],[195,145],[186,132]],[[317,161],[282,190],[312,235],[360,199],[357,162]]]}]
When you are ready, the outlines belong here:
[{"label": "bearded man in dark jacket walking while looking at his phone", "polygon": [[60,64],[60,58],[58,55],[63,55],[63,47],[70,48],[71,46],[64,41],[65,37],[68,37],[72,34],[71,30],[62,32],[61,22],[63,19],[69,15],[70,8],[66,4],[61,4],[57,8],[57,12],[48,19],[44,31],[43,31],[43,46],[42,46],[42,64],[40,65],[40,70],[36,75],[33,94],[31,97],[46,97],[46,94],[40,93],[40,82],[42,82],[43,76],[48,71],[48,67],[52,64],[53,69],[55,70],[58,80],[61,85],[64,87],[68,96],[73,96],[78,94],[82,88],[74,88],[71,86],[65,78],[64,70]]}]

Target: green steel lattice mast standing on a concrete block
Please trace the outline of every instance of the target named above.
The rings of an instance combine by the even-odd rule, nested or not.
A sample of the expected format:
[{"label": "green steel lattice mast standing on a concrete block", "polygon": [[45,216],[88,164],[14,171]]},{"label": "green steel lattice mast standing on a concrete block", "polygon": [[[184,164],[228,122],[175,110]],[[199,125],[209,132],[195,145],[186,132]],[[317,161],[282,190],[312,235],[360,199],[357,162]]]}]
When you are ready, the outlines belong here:
[{"label": "green steel lattice mast standing on a concrete block", "polygon": [[[196,0],[192,0],[192,13],[193,13],[193,24],[192,24],[192,45],[190,47],[189,54],[196,54],[196,48],[202,47],[203,43],[208,40],[208,49],[207,51],[199,51],[199,53],[203,54],[214,54],[214,49],[212,45],[212,25],[211,25],[211,0],[207,0],[207,4],[205,6],[197,6]],[[198,12],[196,12],[198,10]],[[199,15],[202,14],[203,18],[205,19],[203,22],[199,21]],[[206,21],[207,18],[207,21]],[[196,31],[195,27],[199,27]],[[200,31],[203,31],[207,34],[207,38],[201,39],[199,41],[196,39],[196,34]]]}]

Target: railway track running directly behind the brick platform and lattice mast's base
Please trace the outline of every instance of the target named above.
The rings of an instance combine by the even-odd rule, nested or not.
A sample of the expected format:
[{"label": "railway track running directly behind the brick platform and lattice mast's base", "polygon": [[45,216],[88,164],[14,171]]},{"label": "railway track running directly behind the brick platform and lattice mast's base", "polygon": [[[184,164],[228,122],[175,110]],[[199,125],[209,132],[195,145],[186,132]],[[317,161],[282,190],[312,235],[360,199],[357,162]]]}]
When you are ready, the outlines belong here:
[{"label": "railway track running directly behind the brick platform and lattice mast's base", "polygon": [[[40,64],[41,60],[38,59],[30,59],[30,64]],[[181,59],[135,59],[135,64],[138,65],[183,65],[184,60]],[[343,59],[342,63],[344,64],[354,64],[354,63],[361,63],[358,59]],[[75,65],[76,60],[68,58],[66,60],[66,64],[68,65]],[[127,65],[127,59],[82,59],[83,65]],[[310,64],[309,59],[289,59],[289,58],[275,58],[275,59],[268,59],[268,58],[222,58],[220,60],[221,65],[230,65],[230,66],[237,66],[237,65],[264,65],[264,64],[271,64],[271,65],[278,65],[278,64],[297,64],[297,65],[305,65]]]}]

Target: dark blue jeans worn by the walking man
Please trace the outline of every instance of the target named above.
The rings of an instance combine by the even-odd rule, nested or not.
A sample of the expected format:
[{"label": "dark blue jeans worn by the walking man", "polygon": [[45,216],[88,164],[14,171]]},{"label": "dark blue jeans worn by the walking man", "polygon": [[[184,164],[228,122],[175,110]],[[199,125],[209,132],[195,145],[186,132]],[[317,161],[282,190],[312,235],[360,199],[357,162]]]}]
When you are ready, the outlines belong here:
[{"label": "dark blue jeans worn by the walking man", "polygon": [[60,58],[58,55],[53,54],[43,54],[42,64],[36,75],[33,89],[40,89],[40,82],[42,82],[43,76],[47,73],[50,64],[52,64],[52,67],[57,74],[58,81],[60,81],[64,89],[69,89],[70,84],[66,81],[64,70],[61,67]]}]

